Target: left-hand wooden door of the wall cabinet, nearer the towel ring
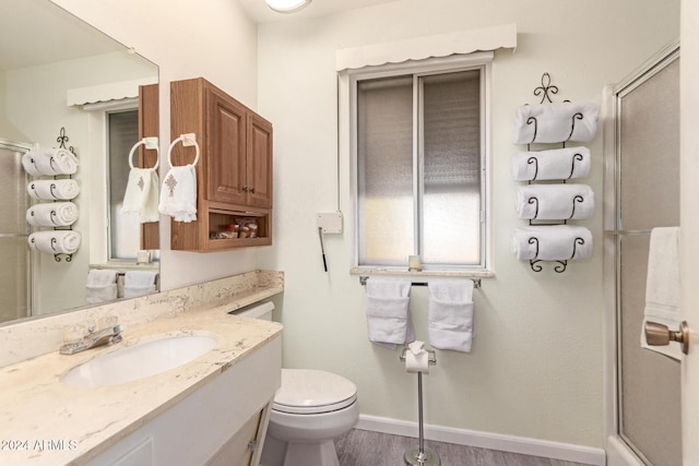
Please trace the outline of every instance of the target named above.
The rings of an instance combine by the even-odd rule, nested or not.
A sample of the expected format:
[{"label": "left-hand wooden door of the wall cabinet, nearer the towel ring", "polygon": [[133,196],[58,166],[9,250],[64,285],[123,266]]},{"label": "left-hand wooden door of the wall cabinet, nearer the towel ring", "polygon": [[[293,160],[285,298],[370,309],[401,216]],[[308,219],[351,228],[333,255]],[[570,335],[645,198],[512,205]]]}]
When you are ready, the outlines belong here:
[{"label": "left-hand wooden door of the wall cabinet, nearer the towel ring", "polygon": [[206,194],[210,201],[245,204],[246,108],[210,88],[206,93]]}]

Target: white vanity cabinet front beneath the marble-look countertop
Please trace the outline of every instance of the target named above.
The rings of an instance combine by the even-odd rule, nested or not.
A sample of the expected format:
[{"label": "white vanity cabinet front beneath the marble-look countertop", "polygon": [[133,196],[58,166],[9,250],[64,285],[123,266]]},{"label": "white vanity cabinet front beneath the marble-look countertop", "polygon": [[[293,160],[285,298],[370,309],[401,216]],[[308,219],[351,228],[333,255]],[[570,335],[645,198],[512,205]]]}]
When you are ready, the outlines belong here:
[{"label": "white vanity cabinet front beneath the marble-look countertop", "polygon": [[257,466],[281,370],[277,335],[242,360],[221,367],[221,372],[87,465]]}]

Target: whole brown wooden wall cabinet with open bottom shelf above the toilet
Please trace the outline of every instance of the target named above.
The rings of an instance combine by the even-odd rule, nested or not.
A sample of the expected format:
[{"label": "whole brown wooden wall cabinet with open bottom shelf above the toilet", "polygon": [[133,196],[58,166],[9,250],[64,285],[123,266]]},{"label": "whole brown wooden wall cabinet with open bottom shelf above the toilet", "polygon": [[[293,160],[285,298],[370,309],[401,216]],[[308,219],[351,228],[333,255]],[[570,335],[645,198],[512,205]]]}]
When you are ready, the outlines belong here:
[{"label": "whole brown wooden wall cabinet with open bottom shelf above the toilet", "polygon": [[[201,151],[197,222],[173,220],[170,248],[206,252],[271,244],[272,123],[197,77],[170,83],[170,138],[186,133],[197,134]],[[178,144],[173,165],[191,164],[194,154]],[[257,225],[254,237],[244,237],[241,223]],[[241,226],[238,237],[233,225]]]}]

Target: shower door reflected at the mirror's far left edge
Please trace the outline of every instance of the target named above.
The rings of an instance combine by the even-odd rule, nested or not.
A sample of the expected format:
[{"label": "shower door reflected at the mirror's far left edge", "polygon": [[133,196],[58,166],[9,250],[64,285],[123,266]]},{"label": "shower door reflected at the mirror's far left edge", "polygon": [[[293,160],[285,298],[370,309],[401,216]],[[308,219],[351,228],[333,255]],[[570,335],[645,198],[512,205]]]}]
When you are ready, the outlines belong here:
[{"label": "shower door reflected at the mirror's far left edge", "polygon": [[31,315],[29,201],[22,168],[31,147],[0,138],[0,323]]}]

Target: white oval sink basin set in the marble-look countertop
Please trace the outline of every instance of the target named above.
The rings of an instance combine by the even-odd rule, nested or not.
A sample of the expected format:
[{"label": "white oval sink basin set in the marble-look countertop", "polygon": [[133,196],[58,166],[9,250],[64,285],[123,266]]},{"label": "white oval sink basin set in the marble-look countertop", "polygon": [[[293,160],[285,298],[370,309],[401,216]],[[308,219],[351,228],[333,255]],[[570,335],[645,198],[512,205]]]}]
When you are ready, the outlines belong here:
[{"label": "white oval sink basin set in the marble-look countertop", "polygon": [[83,387],[131,382],[193,361],[215,344],[210,336],[166,336],[99,356],[71,369],[61,381]]}]

